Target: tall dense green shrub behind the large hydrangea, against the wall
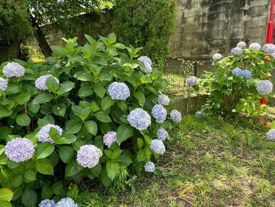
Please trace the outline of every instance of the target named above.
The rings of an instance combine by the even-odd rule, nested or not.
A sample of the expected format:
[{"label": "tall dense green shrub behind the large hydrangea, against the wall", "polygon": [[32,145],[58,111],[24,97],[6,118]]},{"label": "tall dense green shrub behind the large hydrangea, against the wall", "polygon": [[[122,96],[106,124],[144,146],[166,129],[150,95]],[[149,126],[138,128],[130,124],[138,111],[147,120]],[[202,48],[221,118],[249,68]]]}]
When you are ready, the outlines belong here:
[{"label": "tall dense green shrub behind the large hydrangea, against the wall", "polygon": [[115,4],[115,33],[122,41],[143,47],[163,69],[168,43],[175,25],[175,0],[120,0]]}]

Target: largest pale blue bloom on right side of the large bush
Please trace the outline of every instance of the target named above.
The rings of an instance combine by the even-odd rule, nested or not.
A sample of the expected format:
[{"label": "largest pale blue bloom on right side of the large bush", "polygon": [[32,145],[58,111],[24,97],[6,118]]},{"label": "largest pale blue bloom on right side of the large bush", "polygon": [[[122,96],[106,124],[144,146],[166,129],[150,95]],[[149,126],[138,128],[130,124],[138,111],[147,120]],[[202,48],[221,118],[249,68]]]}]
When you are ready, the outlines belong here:
[{"label": "largest pale blue bloom on right side of the large bush", "polygon": [[130,123],[130,126],[138,130],[145,130],[151,125],[150,115],[142,108],[135,108],[135,110],[131,111],[127,117],[127,121]]}]

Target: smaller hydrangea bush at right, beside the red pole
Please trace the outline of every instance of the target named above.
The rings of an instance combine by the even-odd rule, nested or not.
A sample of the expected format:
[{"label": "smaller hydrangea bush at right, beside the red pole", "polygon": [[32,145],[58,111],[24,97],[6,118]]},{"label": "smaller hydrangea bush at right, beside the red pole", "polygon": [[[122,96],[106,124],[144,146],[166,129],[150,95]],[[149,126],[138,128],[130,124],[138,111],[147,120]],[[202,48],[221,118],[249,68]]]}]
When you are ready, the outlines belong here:
[{"label": "smaller hydrangea bush at right, beside the red pole", "polygon": [[214,54],[214,72],[205,72],[197,81],[194,77],[187,81],[196,90],[203,87],[209,95],[207,104],[202,107],[204,112],[199,113],[224,117],[238,112],[251,116],[261,114],[266,105],[259,100],[274,97],[271,81],[271,71],[275,68],[274,52],[273,44],[261,47],[257,43],[247,46],[239,42],[229,56],[222,58],[221,54]]}]

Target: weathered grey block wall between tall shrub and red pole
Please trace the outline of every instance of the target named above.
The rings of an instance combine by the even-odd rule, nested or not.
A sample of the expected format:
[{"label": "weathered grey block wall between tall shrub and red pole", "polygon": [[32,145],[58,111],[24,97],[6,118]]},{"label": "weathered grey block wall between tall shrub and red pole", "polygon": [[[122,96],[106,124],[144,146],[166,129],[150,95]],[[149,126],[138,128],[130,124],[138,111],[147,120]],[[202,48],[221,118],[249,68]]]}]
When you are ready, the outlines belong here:
[{"label": "weathered grey block wall between tall shrub and red pole", "polygon": [[238,41],[264,44],[270,0],[177,0],[171,56],[228,54]]}]

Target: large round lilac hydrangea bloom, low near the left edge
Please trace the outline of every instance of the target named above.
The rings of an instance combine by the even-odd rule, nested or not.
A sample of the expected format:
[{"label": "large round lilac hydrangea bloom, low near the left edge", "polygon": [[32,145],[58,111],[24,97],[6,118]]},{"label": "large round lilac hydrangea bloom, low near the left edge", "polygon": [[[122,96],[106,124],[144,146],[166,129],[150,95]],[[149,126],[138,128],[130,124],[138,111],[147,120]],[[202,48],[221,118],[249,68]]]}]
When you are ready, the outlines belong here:
[{"label": "large round lilac hydrangea bloom, low near the left edge", "polygon": [[28,138],[14,138],[5,146],[6,156],[16,163],[28,161],[34,151],[33,143]]}]

